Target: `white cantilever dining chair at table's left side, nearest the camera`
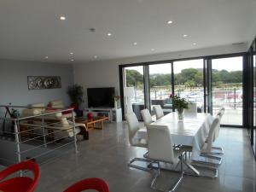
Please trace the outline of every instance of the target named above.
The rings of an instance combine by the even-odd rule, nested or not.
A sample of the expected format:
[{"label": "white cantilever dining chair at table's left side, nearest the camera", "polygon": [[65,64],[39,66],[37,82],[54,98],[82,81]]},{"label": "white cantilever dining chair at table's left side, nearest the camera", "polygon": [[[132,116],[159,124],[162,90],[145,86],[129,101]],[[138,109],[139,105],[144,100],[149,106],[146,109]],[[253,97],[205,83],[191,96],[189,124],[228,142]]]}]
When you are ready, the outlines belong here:
[{"label": "white cantilever dining chair at table's left side, nearest the camera", "polygon": [[[137,116],[135,113],[128,113],[125,115],[125,119],[127,120],[128,123],[128,133],[129,133],[129,143],[131,146],[134,147],[140,147],[140,148],[148,148],[148,143],[147,140],[144,138],[140,138],[137,136],[137,131],[139,129],[146,129],[146,127],[140,127],[139,122],[137,120]],[[143,156],[146,156],[148,153],[146,152]],[[148,162],[149,164],[151,163],[151,160],[148,160],[146,158],[133,158],[129,161],[128,166],[131,166],[133,168],[137,168],[143,171],[148,171],[150,169],[145,168],[143,166],[137,166],[133,164],[135,161],[143,161],[143,162]]]}]

